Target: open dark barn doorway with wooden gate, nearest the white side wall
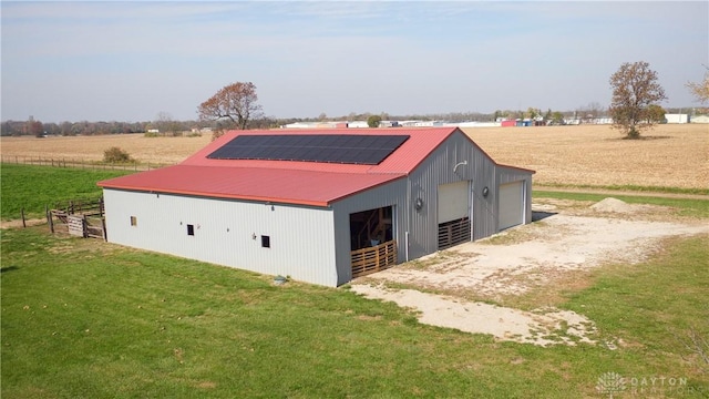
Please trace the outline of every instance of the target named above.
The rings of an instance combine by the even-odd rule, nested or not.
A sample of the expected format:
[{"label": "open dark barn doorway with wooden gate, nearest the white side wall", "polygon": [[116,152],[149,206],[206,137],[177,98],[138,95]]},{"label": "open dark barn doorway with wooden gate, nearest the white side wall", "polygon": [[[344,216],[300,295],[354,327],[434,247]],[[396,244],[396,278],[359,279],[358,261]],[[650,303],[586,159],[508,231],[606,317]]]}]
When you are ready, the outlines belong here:
[{"label": "open dark barn doorway with wooden gate, nearest the white side wall", "polygon": [[352,278],[397,264],[393,236],[391,206],[350,214]]}]

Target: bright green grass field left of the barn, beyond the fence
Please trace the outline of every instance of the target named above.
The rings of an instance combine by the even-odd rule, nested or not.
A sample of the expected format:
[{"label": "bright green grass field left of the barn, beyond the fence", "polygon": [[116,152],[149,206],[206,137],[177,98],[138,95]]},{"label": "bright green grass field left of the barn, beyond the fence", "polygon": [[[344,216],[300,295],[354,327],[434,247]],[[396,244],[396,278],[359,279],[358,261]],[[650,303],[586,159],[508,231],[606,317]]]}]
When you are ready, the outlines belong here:
[{"label": "bright green grass field left of the barn, beyond the fence", "polygon": [[0,165],[3,221],[18,219],[24,207],[28,217],[44,217],[44,206],[71,200],[99,198],[96,182],[123,176],[131,171],[90,171],[72,167]]}]

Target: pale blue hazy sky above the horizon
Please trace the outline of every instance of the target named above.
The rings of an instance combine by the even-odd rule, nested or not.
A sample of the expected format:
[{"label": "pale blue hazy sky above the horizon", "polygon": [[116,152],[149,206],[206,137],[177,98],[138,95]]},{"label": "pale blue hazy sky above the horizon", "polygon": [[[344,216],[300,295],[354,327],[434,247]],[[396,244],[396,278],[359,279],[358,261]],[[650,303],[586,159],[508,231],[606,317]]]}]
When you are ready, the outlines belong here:
[{"label": "pale blue hazy sky above the horizon", "polygon": [[234,82],[267,116],[610,103],[624,62],[699,106],[709,2],[2,1],[1,119],[197,119]]}]

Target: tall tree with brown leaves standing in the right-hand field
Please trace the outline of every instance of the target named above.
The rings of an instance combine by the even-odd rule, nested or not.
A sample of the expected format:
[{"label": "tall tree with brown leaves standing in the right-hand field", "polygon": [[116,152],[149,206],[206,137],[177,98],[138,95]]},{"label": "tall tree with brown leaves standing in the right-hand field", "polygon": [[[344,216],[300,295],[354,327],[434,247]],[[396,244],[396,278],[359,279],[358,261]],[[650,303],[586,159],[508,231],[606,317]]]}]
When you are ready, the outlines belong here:
[{"label": "tall tree with brown leaves standing in the right-hand field", "polygon": [[645,61],[625,62],[610,75],[613,98],[608,112],[613,127],[625,133],[628,139],[639,139],[640,131],[651,129],[654,122],[649,105],[666,100],[665,90],[657,81],[657,72]]}]

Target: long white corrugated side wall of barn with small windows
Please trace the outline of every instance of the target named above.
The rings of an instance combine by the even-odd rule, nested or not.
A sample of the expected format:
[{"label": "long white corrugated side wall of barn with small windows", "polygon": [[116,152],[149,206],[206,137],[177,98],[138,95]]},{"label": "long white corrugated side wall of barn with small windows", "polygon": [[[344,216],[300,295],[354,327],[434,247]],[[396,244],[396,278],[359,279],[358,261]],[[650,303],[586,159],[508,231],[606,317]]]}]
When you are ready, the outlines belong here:
[{"label": "long white corrugated side wall of barn with small windows", "polygon": [[[329,208],[115,190],[104,190],[104,200],[112,243],[337,285]],[[136,226],[131,226],[131,216]],[[188,224],[194,236],[187,235]],[[270,237],[270,248],[261,247],[263,235]]]}]

